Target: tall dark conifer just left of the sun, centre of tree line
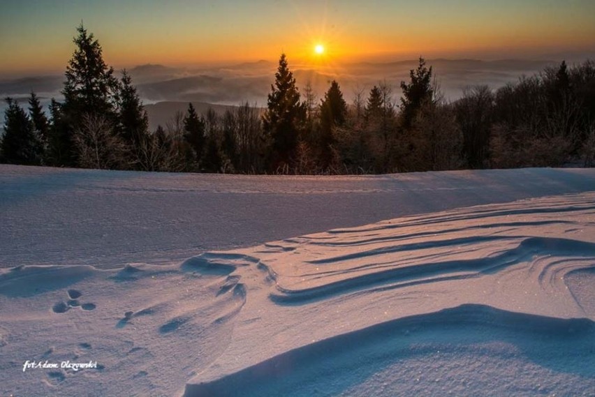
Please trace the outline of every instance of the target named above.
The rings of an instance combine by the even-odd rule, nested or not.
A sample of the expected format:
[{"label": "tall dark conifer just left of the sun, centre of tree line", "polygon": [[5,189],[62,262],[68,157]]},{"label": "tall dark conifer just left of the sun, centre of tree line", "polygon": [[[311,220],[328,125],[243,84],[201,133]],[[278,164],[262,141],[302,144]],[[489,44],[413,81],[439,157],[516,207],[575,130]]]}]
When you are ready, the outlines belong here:
[{"label": "tall dark conifer just left of the sun, centre of tree line", "polygon": [[269,165],[276,170],[291,165],[298,147],[300,126],[304,123],[305,106],[300,103],[300,93],[295,87],[295,78],[288,68],[285,54],[279,58],[274,85],[263,114],[263,130],[271,140]]}]

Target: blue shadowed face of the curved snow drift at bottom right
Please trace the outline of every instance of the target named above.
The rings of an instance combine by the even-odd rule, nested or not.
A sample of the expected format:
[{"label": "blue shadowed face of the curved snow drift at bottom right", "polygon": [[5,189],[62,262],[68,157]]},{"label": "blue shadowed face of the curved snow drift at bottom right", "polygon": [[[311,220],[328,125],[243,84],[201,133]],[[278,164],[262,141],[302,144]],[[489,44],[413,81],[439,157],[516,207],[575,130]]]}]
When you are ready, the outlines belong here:
[{"label": "blue shadowed face of the curved snow drift at bottom right", "polygon": [[[552,345],[548,343],[552,339],[555,348],[540,354],[540,347]],[[585,386],[593,387],[594,342],[595,322],[592,320],[566,320],[467,304],[390,320],[304,345],[219,380],[189,384],[185,396],[237,396],[238,391],[242,391],[242,396],[351,395],[350,389],[356,389],[383,368],[406,364],[436,352],[455,359],[469,352],[480,355],[476,352],[478,345],[485,345],[487,352],[491,348],[501,356],[502,352],[490,346],[495,343],[506,343],[545,368],[559,368],[559,354],[567,354],[572,360],[566,363],[564,372],[584,377]],[[509,358],[495,359],[506,361]],[[431,376],[418,374],[420,377],[428,375]],[[493,383],[501,386],[499,382]],[[455,391],[443,384],[429,386],[438,394]],[[469,394],[464,386],[457,386],[460,389],[457,395],[461,391]],[[429,391],[428,387],[418,389]],[[399,385],[395,390],[398,395],[416,391],[416,387],[408,384]],[[494,391],[497,389],[490,389],[490,394]],[[388,390],[383,392],[397,395]]]}]

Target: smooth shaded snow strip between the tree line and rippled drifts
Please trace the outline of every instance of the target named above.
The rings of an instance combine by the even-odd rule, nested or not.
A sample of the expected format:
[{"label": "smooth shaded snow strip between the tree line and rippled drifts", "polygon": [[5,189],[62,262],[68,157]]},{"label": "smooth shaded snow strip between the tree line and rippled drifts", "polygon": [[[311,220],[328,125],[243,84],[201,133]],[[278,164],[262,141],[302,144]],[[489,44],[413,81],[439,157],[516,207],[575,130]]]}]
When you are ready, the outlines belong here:
[{"label": "smooth shaded snow strip between the tree line and rippled drifts", "polygon": [[0,165],[0,267],[175,263],[202,250],[595,190],[593,170],[252,177]]}]

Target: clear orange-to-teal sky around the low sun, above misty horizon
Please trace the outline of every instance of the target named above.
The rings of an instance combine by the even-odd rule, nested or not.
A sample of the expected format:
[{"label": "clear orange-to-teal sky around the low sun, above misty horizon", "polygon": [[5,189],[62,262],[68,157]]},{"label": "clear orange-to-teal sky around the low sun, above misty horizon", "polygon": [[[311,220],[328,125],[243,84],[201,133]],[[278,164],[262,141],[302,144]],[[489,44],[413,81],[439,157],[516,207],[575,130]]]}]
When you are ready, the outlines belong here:
[{"label": "clear orange-to-teal sky around the low sun, above misty horizon", "polygon": [[595,49],[593,0],[0,0],[0,75],[63,71],[81,20],[117,68]]}]

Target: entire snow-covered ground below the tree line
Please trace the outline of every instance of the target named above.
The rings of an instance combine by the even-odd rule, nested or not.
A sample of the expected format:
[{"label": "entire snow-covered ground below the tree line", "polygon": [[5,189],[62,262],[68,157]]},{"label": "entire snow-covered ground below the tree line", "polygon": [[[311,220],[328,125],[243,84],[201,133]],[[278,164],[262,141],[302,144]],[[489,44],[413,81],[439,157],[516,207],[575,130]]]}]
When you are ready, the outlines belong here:
[{"label": "entire snow-covered ground below the tree line", "polygon": [[[261,180],[0,170],[3,394],[595,394],[593,170]],[[227,204],[254,208],[203,214],[241,191]],[[286,223],[332,222],[321,196],[335,229],[285,236]],[[510,202],[524,197],[536,198]],[[287,214],[262,203],[284,200]],[[372,223],[390,211],[401,216]],[[243,230],[259,216],[267,223]],[[177,237],[166,230],[189,233],[172,257],[194,256],[166,260]],[[117,239],[91,244],[102,232]],[[26,360],[98,368],[23,372]]]}]

